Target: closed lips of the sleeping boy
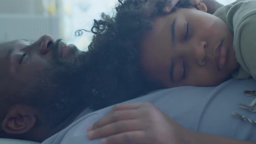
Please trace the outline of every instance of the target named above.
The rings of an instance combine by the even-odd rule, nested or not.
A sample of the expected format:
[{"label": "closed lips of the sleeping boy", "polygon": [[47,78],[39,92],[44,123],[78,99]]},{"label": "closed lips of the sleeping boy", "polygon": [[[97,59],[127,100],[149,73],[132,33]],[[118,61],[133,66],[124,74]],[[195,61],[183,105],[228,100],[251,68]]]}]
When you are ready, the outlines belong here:
[{"label": "closed lips of the sleeping boy", "polygon": [[223,47],[223,40],[220,42],[217,49],[215,49],[214,61],[216,62],[218,70],[221,71],[226,62],[226,49]]}]

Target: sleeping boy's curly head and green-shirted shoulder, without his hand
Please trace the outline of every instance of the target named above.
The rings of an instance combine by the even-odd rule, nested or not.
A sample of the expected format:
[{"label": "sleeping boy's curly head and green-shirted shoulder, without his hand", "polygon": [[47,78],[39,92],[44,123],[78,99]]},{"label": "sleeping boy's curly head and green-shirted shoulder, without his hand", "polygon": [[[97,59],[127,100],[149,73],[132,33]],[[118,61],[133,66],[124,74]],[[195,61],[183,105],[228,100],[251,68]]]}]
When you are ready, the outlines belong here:
[{"label": "sleeping boy's curly head and green-shirted shoulder, without his hand", "polygon": [[165,14],[164,0],[158,2],[155,7],[143,0],[124,1],[114,17],[96,21],[89,47],[117,52],[158,88],[213,86],[231,76],[256,78],[256,1],[238,0],[213,15],[204,3],[192,0],[179,0]]}]

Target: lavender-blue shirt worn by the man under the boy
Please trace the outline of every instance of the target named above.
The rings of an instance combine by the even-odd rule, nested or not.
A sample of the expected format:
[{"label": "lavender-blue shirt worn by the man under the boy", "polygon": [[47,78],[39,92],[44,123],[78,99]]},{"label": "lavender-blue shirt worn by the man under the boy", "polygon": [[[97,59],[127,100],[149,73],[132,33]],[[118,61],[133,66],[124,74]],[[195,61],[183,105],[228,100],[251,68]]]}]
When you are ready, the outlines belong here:
[{"label": "lavender-blue shirt worn by the man under the boy", "polygon": [[[246,97],[244,90],[256,90],[253,79],[230,79],[216,87],[183,86],[159,90],[126,102],[151,102],[186,128],[225,137],[256,141],[256,125],[231,115],[236,111],[256,120],[256,114],[239,108],[255,97]],[[100,144],[89,140],[86,128],[102,118],[111,107],[84,115],[43,144]]]}]

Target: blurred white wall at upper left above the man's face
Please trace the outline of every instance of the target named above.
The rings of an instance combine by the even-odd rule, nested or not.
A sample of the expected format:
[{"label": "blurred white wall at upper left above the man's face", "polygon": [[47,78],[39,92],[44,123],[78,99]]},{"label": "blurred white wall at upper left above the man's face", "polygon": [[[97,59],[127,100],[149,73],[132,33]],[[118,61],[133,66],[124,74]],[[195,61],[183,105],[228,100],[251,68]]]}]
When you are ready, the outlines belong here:
[{"label": "blurred white wall at upper left above the man's face", "polygon": [[60,36],[59,16],[47,14],[45,0],[0,0],[0,42]]}]

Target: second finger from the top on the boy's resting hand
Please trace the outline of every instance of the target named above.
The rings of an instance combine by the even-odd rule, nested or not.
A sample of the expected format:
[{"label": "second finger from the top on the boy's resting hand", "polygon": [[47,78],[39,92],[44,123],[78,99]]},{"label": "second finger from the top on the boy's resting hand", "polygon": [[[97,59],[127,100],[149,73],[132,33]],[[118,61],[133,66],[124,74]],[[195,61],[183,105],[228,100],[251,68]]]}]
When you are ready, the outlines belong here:
[{"label": "second finger from the top on the boy's resting hand", "polygon": [[136,110],[123,110],[123,111],[112,111],[111,113],[105,115],[102,119],[89,126],[87,131],[95,130],[96,128],[101,128],[104,125],[111,124],[116,121],[135,119],[138,117]]}]

